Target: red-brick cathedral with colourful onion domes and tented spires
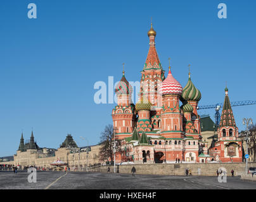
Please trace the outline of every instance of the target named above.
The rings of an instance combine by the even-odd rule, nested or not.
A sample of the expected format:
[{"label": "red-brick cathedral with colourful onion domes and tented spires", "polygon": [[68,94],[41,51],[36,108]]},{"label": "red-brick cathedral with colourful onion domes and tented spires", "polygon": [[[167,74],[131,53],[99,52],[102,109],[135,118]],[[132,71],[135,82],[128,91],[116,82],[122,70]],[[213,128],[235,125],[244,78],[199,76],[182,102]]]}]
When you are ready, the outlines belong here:
[{"label": "red-brick cathedral with colourful onion domes and tented spires", "polygon": [[[117,86],[117,106],[112,110],[115,140],[120,143],[117,162],[182,163],[242,162],[241,141],[227,95],[218,129],[218,140],[207,149],[197,112],[202,95],[188,74],[182,88],[169,72],[165,78],[155,47],[157,32],[148,31],[150,49],[143,70],[139,102],[131,102],[132,86],[123,75]],[[179,105],[179,101],[182,105]]]}]

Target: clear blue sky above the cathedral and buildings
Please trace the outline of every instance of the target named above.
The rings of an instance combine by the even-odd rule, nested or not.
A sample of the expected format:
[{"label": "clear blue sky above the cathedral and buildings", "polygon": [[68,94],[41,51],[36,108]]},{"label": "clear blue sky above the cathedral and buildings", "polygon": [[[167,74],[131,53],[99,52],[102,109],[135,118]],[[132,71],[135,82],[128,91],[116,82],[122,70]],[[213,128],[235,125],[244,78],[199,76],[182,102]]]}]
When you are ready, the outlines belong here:
[{"label": "clear blue sky above the cathedral and buildings", "polygon": [[[37,5],[37,19],[27,5]],[[219,3],[227,19],[217,18]],[[21,1],[0,3],[0,156],[13,155],[20,136],[58,148],[71,133],[79,146],[99,142],[112,124],[113,104],[94,104],[96,81],[139,81],[150,19],[165,70],[182,84],[191,78],[202,92],[199,105],[256,100],[255,1]],[[256,105],[233,107],[256,122]],[[201,114],[214,117],[214,109]]]}]

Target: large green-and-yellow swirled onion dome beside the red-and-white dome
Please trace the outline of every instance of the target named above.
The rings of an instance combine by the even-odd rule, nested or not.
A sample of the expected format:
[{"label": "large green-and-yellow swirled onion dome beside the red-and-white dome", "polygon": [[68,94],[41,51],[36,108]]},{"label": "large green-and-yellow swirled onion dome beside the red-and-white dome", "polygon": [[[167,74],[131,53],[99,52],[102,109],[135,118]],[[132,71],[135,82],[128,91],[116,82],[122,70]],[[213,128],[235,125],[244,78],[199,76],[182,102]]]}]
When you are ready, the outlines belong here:
[{"label": "large green-and-yellow swirled onion dome beside the red-and-white dome", "polygon": [[194,100],[194,101],[199,101],[201,100],[201,93],[200,91],[193,85],[191,78],[190,78],[190,73],[189,73],[189,78],[188,78],[188,83],[187,85],[183,88],[183,92],[181,95],[181,101],[182,100]]}]

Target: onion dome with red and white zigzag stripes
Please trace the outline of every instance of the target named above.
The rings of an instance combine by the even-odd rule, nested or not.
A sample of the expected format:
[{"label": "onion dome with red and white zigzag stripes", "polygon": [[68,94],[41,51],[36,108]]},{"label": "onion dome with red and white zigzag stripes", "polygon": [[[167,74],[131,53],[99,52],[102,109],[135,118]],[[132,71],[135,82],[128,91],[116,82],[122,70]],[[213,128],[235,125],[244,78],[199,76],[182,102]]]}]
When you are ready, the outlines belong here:
[{"label": "onion dome with red and white zigzag stripes", "polygon": [[181,84],[172,76],[172,73],[169,70],[167,78],[162,83],[160,87],[160,92],[162,95],[168,94],[175,94],[181,95],[182,94],[182,86]]}]

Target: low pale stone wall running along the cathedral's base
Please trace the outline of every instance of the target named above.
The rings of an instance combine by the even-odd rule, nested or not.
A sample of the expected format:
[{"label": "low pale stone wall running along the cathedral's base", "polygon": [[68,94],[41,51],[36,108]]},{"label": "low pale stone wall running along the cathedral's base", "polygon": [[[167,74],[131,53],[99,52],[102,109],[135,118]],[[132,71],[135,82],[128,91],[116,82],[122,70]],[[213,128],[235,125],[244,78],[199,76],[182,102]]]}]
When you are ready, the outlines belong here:
[{"label": "low pale stone wall running along the cathedral's base", "polygon": [[[227,176],[231,176],[231,170],[234,170],[234,175],[238,176],[245,173],[245,163],[155,163],[155,164],[130,164],[119,165],[118,171],[122,174],[131,174],[132,167],[136,168],[136,174],[152,174],[152,175],[185,175],[186,169],[191,169],[192,175],[202,176],[217,176],[217,169],[222,168],[227,170]],[[90,171],[107,172],[110,167],[110,172],[113,172],[113,165],[102,166]],[[256,167],[256,162],[248,163],[249,167]],[[116,166],[117,170],[117,166]],[[256,178],[256,177],[255,177]]]}]

